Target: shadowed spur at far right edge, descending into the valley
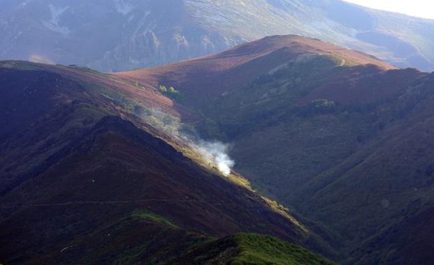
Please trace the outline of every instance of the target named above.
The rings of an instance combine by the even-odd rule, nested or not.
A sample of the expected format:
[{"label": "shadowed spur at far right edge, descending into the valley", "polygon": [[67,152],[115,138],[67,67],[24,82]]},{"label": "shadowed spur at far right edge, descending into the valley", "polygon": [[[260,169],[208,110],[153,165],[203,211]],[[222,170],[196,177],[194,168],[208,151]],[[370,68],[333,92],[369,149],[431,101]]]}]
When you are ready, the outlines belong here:
[{"label": "shadowed spur at far right edge, descending into the valley", "polygon": [[[353,235],[352,241],[372,236],[356,256],[368,256],[361,264],[423,264],[430,260],[429,252],[406,250],[432,245],[432,239],[421,231],[431,229],[433,207],[433,86],[432,74],[421,77],[395,100],[376,107],[375,123],[380,132],[297,192],[307,195],[300,198],[305,199],[303,211],[325,206],[323,213],[334,212],[314,213],[314,219]],[[342,222],[343,216],[346,220]]]}]

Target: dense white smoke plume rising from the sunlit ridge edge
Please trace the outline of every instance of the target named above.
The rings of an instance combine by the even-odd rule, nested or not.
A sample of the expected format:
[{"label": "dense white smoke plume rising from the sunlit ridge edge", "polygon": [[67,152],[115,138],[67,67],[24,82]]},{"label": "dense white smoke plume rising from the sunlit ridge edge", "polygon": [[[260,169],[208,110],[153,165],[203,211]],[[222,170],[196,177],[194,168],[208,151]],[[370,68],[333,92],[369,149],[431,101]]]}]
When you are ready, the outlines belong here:
[{"label": "dense white smoke plume rising from the sunlit ridge edge", "polygon": [[217,167],[224,176],[231,174],[235,162],[228,155],[229,146],[221,142],[198,142],[198,151],[211,165]]}]

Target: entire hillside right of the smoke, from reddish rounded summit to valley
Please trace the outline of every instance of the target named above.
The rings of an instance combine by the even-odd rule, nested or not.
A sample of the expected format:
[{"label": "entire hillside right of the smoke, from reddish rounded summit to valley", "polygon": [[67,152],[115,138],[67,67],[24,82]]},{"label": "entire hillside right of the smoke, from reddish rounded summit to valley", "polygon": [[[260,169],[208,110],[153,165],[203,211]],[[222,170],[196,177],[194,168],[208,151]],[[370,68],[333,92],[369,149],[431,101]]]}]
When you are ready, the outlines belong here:
[{"label": "entire hillside right of the smoke, from reddish rounded summit to valley", "polygon": [[229,142],[236,171],[295,211],[342,262],[429,259],[403,252],[431,242],[423,233],[390,231],[409,222],[430,229],[417,216],[434,199],[433,74],[273,36],[115,76],[175,87],[178,103],[202,117],[201,136]]}]

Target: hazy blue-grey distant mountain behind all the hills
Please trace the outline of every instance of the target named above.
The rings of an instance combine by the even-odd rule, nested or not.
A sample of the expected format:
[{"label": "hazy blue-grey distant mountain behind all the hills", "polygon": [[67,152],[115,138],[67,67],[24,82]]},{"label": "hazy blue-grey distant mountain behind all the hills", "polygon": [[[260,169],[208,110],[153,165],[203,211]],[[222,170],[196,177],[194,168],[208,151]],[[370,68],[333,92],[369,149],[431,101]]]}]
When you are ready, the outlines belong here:
[{"label": "hazy blue-grey distant mountain behind all the hills", "polygon": [[320,38],[434,69],[434,20],[340,0],[1,0],[0,59],[131,70],[276,34]]}]

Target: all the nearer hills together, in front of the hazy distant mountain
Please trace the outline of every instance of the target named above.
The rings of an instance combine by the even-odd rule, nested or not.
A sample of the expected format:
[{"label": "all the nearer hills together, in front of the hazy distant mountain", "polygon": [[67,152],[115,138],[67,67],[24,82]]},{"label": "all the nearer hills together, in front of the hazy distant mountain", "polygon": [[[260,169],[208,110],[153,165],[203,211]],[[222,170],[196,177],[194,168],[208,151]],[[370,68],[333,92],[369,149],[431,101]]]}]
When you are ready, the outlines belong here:
[{"label": "all the nearer hills together, in front of the hazy distant mountain", "polygon": [[434,259],[433,73],[288,35],[0,80],[5,264]]}]

